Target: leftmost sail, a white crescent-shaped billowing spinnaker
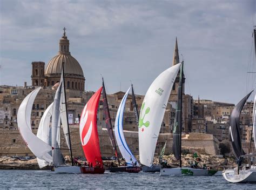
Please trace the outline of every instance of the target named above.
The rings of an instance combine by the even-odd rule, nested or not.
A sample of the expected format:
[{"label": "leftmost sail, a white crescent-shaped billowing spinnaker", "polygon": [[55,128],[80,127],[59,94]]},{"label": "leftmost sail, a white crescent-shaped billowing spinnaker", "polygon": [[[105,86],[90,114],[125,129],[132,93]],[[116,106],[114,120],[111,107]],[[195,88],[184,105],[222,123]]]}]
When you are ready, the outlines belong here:
[{"label": "leftmost sail, a white crescent-shaped billowing spinnaker", "polygon": [[30,151],[35,154],[37,158],[51,162],[52,157],[48,154],[48,152],[52,150],[52,147],[33,134],[31,129],[31,110],[33,102],[40,89],[41,87],[38,87],[30,92],[19,106],[17,115],[18,128],[19,133],[21,133],[22,138],[29,147]]}]

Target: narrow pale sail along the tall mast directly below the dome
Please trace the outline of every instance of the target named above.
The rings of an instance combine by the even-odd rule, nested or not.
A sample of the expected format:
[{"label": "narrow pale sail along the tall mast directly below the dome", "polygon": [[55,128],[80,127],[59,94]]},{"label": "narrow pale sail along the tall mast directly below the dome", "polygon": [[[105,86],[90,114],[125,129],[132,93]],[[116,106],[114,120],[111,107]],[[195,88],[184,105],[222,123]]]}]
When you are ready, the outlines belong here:
[{"label": "narrow pale sail along the tall mast directly below the dome", "polygon": [[[62,76],[60,77],[60,82],[63,83],[63,72]],[[66,111],[66,97],[65,97],[65,87],[62,85],[61,95],[60,95],[60,120],[62,123],[63,133],[66,140],[66,145],[70,150],[70,139],[69,139],[69,125],[68,125],[68,118],[67,118],[67,111]]]}]

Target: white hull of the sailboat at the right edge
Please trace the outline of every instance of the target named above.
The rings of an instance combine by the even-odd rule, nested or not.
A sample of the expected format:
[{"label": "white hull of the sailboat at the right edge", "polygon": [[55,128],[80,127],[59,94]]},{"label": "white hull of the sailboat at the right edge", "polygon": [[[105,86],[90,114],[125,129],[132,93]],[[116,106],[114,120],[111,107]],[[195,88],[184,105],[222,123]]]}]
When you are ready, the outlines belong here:
[{"label": "white hull of the sailboat at the right edge", "polygon": [[255,183],[256,182],[256,166],[252,166],[250,169],[242,169],[237,175],[237,168],[226,169],[222,173],[225,180],[231,183]]}]

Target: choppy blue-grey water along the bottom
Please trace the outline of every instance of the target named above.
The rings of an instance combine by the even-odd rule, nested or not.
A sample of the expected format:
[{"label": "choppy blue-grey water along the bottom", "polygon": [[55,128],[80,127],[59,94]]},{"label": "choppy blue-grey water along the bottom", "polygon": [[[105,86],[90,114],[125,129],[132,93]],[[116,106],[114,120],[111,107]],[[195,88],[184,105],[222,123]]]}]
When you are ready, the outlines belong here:
[{"label": "choppy blue-grey water along the bottom", "polygon": [[3,188],[97,189],[255,189],[255,184],[230,184],[222,176],[160,177],[159,173],[55,174],[42,170],[0,170]]}]

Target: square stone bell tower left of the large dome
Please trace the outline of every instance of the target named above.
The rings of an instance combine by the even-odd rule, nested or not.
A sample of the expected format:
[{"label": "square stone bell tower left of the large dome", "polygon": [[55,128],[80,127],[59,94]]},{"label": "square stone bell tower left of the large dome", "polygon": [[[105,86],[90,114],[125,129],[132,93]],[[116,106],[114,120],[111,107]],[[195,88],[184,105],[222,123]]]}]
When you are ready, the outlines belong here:
[{"label": "square stone bell tower left of the large dome", "polygon": [[44,86],[44,62],[32,62],[32,86]]}]

